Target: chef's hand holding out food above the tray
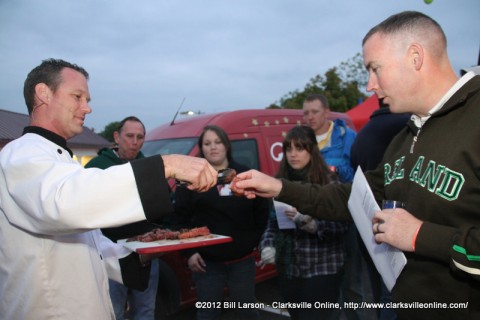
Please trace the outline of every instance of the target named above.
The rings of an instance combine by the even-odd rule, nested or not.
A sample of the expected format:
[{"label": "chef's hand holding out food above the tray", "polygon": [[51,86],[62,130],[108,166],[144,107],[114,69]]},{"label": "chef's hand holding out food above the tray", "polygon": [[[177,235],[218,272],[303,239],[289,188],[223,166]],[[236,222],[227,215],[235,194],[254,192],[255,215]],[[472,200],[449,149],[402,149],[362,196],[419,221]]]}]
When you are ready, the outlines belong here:
[{"label": "chef's hand holding out food above the tray", "polygon": [[204,158],[169,154],[162,159],[165,177],[186,182],[190,190],[203,192],[217,184],[217,171]]}]

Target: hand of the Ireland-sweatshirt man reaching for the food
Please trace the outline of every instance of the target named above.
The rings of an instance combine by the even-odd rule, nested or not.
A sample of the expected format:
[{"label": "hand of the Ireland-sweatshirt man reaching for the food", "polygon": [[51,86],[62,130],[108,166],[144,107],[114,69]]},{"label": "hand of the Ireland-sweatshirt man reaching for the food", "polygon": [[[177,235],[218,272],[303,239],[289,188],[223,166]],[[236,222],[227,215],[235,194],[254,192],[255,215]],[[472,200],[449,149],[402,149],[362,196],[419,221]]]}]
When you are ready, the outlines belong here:
[{"label": "hand of the Ireland-sweatshirt man reaching for the food", "polygon": [[282,182],[257,170],[249,170],[237,174],[230,189],[235,195],[244,195],[248,199],[257,196],[273,198],[282,190]]}]

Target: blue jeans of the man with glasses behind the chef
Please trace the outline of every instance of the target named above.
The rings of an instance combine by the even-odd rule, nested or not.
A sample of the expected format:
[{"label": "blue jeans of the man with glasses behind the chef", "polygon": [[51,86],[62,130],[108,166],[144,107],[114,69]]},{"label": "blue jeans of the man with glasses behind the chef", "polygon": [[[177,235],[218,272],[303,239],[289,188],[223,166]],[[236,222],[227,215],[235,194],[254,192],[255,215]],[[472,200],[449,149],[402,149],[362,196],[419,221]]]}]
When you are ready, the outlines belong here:
[{"label": "blue jeans of the man with glasses behind the chef", "polygon": [[[132,316],[134,320],[155,320],[155,302],[158,288],[158,259],[151,262],[150,280],[145,291],[130,290],[132,300]],[[127,301],[128,288],[123,284],[109,280],[110,299],[113,304],[113,311],[117,320],[124,319],[125,303]]]}]

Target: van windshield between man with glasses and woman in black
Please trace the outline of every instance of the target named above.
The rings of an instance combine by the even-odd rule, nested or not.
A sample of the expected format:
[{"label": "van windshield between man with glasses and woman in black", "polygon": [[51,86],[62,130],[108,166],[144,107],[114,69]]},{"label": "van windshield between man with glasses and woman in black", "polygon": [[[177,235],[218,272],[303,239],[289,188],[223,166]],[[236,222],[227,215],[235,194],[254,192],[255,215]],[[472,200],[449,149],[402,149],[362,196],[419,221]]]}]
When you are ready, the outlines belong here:
[{"label": "van windshield between man with glasses and woman in black", "polygon": [[142,152],[146,157],[157,154],[189,154],[196,144],[197,138],[145,141]]}]

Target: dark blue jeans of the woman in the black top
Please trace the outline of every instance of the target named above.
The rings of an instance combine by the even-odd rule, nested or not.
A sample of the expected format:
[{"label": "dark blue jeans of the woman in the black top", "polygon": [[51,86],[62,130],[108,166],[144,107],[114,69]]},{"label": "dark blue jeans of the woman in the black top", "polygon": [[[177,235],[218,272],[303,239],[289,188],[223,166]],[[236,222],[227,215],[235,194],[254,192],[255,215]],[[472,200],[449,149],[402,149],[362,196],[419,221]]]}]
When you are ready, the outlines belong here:
[{"label": "dark blue jeans of the woman in the black top", "polygon": [[[205,259],[204,259],[205,260]],[[223,303],[225,288],[228,288],[230,301],[255,303],[255,259],[253,257],[233,263],[205,260],[206,272],[194,272],[193,280],[197,287],[198,301]],[[235,309],[238,319],[258,319],[258,310],[252,308]],[[220,319],[219,308],[197,309],[197,320]]]}]

